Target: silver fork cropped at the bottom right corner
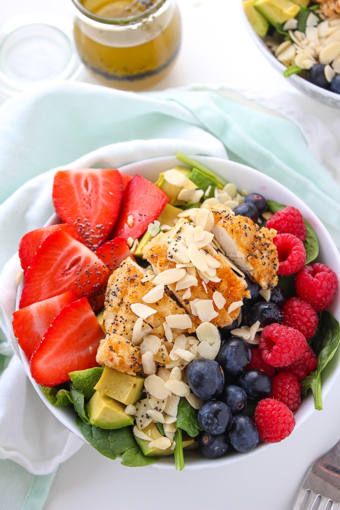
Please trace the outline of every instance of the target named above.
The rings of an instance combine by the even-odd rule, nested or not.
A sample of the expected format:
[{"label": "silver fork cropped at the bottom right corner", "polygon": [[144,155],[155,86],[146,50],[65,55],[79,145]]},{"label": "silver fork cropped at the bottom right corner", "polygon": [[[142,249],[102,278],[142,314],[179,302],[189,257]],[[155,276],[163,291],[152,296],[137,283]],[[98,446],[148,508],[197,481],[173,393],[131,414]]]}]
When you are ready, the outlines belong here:
[{"label": "silver fork cropped at the bottom right corner", "polygon": [[340,440],[310,466],[292,510],[340,509]]}]

